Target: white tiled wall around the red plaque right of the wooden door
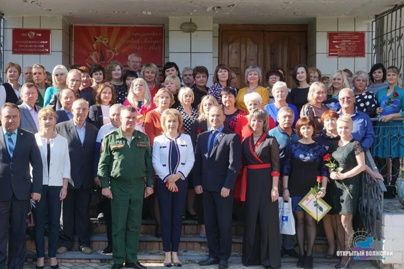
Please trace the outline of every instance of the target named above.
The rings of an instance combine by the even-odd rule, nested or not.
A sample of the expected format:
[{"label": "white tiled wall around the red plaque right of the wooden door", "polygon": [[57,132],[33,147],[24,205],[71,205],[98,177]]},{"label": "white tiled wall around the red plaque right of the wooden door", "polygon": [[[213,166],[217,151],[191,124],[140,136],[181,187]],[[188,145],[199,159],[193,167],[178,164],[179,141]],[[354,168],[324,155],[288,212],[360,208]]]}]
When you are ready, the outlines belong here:
[{"label": "white tiled wall around the red plaque right of the wooden door", "polygon": [[[344,68],[348,68],[352,72],[369,71],[371,67],[371,22],[370,17],[317,17],[312,19],[308,23],[307,30],[307,64],[316,66],[324,75]],[[364,31],[365,57],[327,57],[328,31]]]}]

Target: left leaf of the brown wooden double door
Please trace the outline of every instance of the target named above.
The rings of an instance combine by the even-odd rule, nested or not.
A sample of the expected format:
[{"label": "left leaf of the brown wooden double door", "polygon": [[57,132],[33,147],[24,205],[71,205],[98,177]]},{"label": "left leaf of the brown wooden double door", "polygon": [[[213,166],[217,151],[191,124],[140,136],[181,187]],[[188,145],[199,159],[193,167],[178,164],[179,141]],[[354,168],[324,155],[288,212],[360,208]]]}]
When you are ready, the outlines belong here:
[{"label": "left leaf of the brown wooden double door", "polygon": [[237,74],[237,86],[244,86],[244,71],[249,65],[263,66],[262,31],[223,31],[222,63]]}]

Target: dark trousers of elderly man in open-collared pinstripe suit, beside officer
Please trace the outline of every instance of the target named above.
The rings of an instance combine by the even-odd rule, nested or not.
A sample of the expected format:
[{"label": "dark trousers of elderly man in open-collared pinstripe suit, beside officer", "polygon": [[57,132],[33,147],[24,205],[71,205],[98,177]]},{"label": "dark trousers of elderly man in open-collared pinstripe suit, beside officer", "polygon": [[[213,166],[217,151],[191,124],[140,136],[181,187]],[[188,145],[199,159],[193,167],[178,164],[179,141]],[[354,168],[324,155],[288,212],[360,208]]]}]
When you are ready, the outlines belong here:
[{"label": "dark trousers of elderly man in open-collared pinstripe suit, beside officer", "polygon": [[72,249],[75,233],[79,237],[79,248],[80,246],[90,246],[90,194],[91,189],[83,188],[83,186],[68,188],[68,193],[62,205],[59,246],[65,246],[69,250]]}]

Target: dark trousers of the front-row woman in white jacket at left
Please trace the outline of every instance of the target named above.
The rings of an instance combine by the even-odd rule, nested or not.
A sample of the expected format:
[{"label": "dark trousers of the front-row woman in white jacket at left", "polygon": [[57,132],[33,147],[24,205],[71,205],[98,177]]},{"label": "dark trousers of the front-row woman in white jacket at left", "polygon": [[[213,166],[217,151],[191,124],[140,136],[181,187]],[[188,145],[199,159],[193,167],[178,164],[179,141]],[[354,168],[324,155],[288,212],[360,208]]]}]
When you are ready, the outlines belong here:
[{"label": "dark trousers of the front-row woman in white jacket at left", "polygon": [[[37,257],[45,257],[45,225],[49,224],[48,234],[48,255],[50,258],[56,257],[56,249],[59,241],[59,226],[62,201],[59,200],[61,186],[42,186],[42,195],[36,203],[35,220],[35,247]],[[48,213],[48,217],[47,217]]]}]

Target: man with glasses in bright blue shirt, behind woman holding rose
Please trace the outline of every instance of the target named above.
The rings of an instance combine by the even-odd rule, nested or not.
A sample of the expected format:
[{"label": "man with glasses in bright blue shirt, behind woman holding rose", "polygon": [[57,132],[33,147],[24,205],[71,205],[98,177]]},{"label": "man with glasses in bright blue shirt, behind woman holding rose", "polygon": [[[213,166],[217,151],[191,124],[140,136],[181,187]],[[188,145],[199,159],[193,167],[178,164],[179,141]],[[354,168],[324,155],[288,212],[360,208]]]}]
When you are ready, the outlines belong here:
[{"label": "man with glasses in bright blue shirt, behind woman holding rose", "polygon": [[350,116],[353,120],[352,136],[358,140],[365,150],[373,143],[374,131],[370,117],[355,108],[355,94],[350,88],[343,88],[338,94],[339,109],[338,114],[340,116]]}]

